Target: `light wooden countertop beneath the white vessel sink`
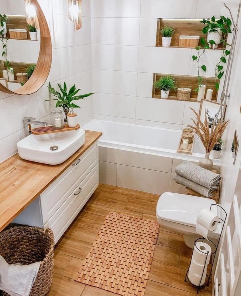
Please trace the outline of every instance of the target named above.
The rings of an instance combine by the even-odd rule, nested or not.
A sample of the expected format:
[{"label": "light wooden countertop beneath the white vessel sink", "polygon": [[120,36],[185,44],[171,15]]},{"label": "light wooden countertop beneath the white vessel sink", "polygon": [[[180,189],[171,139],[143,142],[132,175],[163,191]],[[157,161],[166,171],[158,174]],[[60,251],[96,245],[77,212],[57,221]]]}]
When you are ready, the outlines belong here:
[{"label": "light wooden countertop beneath the white vessel sink", "polygon": [[60,165],[23,160],[18,154],[0,164],[0,231],[13,221],[58,176],[78,159],[102,133],[85,131],[85,144]]}]

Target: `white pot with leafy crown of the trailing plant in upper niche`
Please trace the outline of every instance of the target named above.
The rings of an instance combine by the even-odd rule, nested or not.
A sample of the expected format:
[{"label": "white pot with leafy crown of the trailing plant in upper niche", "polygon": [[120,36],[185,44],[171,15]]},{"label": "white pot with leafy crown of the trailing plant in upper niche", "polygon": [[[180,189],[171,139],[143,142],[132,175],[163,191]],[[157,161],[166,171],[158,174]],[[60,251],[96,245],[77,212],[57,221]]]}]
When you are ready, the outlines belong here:
[{"label": "white pot with leafy crown of the trailing plant in upper niche", "polygon": [[203,34],[208,34],[207,41],[209,43],[209,47],[213,47],[213,49],[218,48],[218,44],[221,43],[223,35],[232,33],[232,21],[223,15],[221,15],[220,19],[218,20],[216,20],[215,16],[213,16],[211,19],[203,19],[201,23],[205,24],[205,27],[203,28]]}]

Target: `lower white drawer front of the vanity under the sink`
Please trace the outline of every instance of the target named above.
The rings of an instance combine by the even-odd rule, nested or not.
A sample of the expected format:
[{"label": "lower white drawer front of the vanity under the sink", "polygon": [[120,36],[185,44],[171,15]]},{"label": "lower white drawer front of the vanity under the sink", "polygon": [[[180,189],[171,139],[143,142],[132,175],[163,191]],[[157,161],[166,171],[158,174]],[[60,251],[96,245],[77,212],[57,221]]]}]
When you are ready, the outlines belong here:
[{"label": "lower white drawer front of the vanity under the sink", "polygon": [[86,176],[77,186],[70,197],[62,204],[57,212],[44,225],[44,229],[50,227],[54,232],[55,243],[78,215],[79,211],[89,200],[99,184],[99,165]]}]

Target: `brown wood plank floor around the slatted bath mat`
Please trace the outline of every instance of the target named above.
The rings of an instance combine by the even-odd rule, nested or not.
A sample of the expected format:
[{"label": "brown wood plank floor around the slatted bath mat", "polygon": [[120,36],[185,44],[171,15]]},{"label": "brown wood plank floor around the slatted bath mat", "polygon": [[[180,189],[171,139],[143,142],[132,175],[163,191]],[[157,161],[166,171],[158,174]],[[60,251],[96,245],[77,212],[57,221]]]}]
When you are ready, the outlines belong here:
[{"label": "brown wood plank floor around the slatted bath mat", "polygon": [[[74,279],[110,211],[156,219],[158,198],[155,194],[100,184],[55,248],[53,284],[48,296],[116,296]],[[197,295],[196,288],[184,282],[191,254],[181,235],[160,226],[145,296]],[[199,295],[211,296],[211,286]]]}]

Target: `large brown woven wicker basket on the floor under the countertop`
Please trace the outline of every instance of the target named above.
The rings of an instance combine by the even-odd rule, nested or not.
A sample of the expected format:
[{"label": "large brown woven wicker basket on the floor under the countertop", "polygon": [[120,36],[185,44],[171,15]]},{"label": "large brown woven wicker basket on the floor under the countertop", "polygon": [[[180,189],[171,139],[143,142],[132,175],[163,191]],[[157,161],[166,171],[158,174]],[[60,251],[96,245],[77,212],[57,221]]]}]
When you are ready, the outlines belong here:
[{"label": "large brown woven wicker basket on the floor under the countertop", "polygon": [[[52,284],[54,234],[38,227],[14,226],[0,233],[0,254],[9,264],[28,265],[41,261],[30,296],[45,296]],[[9,296],[0,290],[0,295]]]}]

